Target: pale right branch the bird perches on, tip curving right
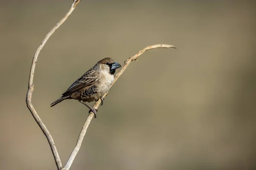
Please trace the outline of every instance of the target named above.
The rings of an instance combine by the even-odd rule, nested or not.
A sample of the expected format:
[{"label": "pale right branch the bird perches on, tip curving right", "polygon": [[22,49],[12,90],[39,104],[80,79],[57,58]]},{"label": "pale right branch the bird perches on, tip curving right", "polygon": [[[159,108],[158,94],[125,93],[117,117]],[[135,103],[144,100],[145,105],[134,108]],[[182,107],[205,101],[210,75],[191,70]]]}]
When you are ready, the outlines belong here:
[{"label": "pale right branch the bird perches on, tip curving right", "polygon": [[[121,74],[125,71],[125,69],[128,67],[128,65],[134,61],[134,60],[137,60],[137,58],[143,54],[145,51],[147,50],[150,50],[150,49],[154,49],[154,48],[176,48],[175,46],[173,45],[166,45],[166,44],[156,44],[156,45],[150,45],[146,48],[144,48],[143,50],[139,51],[137,54],[135,54],[133,57],[130,57],[128,58],[124,65],[121,67],[121,70],[116,74],[116,77],[112,83],[112,85],[116,82],[116,80],[121,76]],[[111,85],[111,87],[112,87]],[[108,92],[106,94],[104,94],[103,97],[105,97],[106,95],[108,94]],[[97,109],[99,107],[101,103],[101,100],[98,100],[97,102],[95,102],[95,104],[93,105],[93,108]],[[81,143],[83,142],[83,139],[84,139],[84,135],[86,133],[86,130],[91,122],[91,120],[93,119],[93,112],[90,112],[89,116],[87,117],[87,120],[85,121],[84,123],[84,126],[82,127],[82,130],[79,134],[79,137],[78,137],[78,140],[76,142],[76,146],[74,148],[74,150],[72,151],[69,159],[67,160],[67,163],[65,164],[64,166],[64,170],[68,170],[72,164],[72,162],[74,161],[75,157],[76,157],[76,154],[78,153],[80,147],[81,147]]]}]

